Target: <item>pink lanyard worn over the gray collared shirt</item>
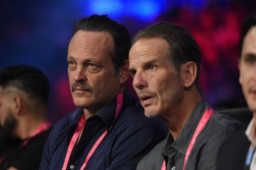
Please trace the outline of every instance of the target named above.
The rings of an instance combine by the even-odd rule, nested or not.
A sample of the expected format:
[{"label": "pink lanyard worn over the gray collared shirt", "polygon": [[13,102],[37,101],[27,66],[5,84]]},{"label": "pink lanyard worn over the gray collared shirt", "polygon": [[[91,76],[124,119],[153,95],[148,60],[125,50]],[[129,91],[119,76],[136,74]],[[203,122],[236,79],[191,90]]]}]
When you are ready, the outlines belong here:
[{"label": "pink lanyard worn over the gray collared shirt", "polygon": [[[196,142],[196,138],[197,136],[199,135],[199,133],[202,131],[202,129],[204,128],[204,126],[206,125],[206,123],[208,122],[209,118],[212,116],[212,114],[214,113],[215,111],[212,109],[212,107],[209,107],[208,109],[206,109],[206,111],[204,112],[202,118],[200,119],[197,127],[196,127],[196,131],[188,145],[188,149],[186,151],[186,155],[185,155],[185,159],[184,159],[184,164],[183,164],[183,170],[185,169],[185,165],[187,163],[187,160],[188,160],[188,156]],[[166,165],[165,165],[165,160],[163,162],[163,165],[162,165],[162,168],[161,170],[165,170],[166,169]]]}]

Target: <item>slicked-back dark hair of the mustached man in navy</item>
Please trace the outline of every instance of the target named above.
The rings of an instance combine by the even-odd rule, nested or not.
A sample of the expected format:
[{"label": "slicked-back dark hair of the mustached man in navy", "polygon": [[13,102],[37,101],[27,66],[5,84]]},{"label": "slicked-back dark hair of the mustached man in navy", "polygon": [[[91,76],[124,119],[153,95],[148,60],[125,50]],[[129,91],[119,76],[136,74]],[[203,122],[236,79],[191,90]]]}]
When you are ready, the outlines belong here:
[{"label": "slicked-back dark hair of the mustached man in navy", "polygon": [[108,17],[108,15],[91,15],[74,21],[73,35],[78,30],[92,32],[108,32],[111,34],[114,44],[111,49],[111,57],[114,65],[114,77],[118,77],[119,68],[124,61],[129,58],[129,50],[131,48],[131,38],[128,30],[124,25],[118,24]]}]

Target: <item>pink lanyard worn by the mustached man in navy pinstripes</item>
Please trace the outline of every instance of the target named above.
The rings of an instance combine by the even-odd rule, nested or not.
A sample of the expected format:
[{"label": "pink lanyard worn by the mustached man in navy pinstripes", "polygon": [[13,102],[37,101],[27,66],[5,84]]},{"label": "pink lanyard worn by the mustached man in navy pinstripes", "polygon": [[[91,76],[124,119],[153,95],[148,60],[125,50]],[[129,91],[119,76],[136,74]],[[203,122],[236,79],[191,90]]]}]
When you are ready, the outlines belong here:
[{"label": "pink lanyard worn by the mustached man in navy pinstripes", "polygon": [[[116,104],[116,115],[115,115],[115,120],[114,122],[116,121],[116,119],[118,118],[119,114],[120,114],[120,111],[121,111],[121,108],[122,108],[122,104],[123,104],[123,92],[120,93],[119,95],[117,95],[116,97],[117,99],[117,104]],[[66,157],[65,157],[65,161],[64,161],[64,164],[62,166],[62,170],[66,170],[67,168],[67,165],[68,165],[68,161],[69,161],[69,158],[70,158],[70,154],[76,144],[76,140],[78,138],[78,136],[80,135],[82,129],[84,128],[85,126],[85,122],[86,122],[86,119],[85,119],[85,115],[83,114],[82,118],[80,119],[80,121],[78,122],[77,126],[76,126],[76,130],[73,134],[73,137],[69,143],[69,146],[68,146],[68,151],[67,151],[67,154],[66,154]],[[114,124],[113,122],[113,124]],[[109,130],[112,128],[113,124],[111,125],[111,127],[109,128]],[[87,165],[89,159],[91,158],[93,152],[96,150],[96,148],[98,147],[98,145],[100,144],[100,142],[103,140],[103,138],[106,136],[107,134],[107,130],[100,136],[100,138],[96,141],[96,143],[94,143],[91,151],[89,152],[89,154],[87,155],[87,157],[85,158],[85,161],[84,161],[84,164],[83,166],[80,168],[80,170],[83,170],[85,168],[85,166]]]}]

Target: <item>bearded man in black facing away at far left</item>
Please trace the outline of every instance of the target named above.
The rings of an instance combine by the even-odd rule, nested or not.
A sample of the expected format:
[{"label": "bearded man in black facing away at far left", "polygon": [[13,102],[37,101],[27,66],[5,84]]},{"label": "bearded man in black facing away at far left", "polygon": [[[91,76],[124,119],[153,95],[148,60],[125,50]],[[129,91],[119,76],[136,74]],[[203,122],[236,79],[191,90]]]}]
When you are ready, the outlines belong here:
[{"label": "bearded man in black facing away at far left", "polygon": [[0,149],[0,169],[39,168],[51,130],[46,117],[49,89],[47,77],[37,68],[10,66],[0,72],[0,125],[4,139],[9,136]]}]

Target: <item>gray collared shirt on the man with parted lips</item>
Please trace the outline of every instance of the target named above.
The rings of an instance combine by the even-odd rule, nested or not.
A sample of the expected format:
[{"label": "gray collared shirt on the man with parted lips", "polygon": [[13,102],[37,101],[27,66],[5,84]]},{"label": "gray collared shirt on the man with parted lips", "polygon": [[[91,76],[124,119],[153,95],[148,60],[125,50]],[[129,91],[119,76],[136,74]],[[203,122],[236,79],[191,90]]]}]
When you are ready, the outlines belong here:
[{"label": "gray collared shirt on the man with parted lips", "polygon": [[[160,170],[164,159],[167,170],[182,170],[188,145],[209,107],[208,101],[203,99],[177,139],[174,141],[169,132],[167,138],[140,161],[137,170]],[[198,135],[185,170],[243,169],[246,155],[244,143],[247,141],[244,130],[244,124],[215,112]]]}]

